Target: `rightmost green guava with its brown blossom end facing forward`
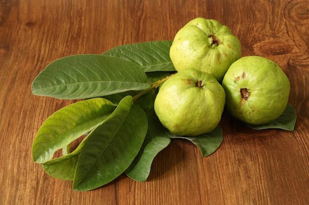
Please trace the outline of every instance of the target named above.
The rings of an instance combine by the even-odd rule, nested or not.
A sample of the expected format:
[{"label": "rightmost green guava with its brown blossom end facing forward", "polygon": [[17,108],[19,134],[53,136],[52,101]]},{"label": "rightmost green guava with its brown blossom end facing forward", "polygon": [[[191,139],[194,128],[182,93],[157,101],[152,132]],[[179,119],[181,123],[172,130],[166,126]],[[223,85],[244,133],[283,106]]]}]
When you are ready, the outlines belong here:
[{"label": "rightmost green guava with its brown blossom end facing forward", "polygon": [[266,124],[285,110],[290,82],[277,63],[259,56],[236,60],[225,74],[222,86],[227,111],[253,125]]}]

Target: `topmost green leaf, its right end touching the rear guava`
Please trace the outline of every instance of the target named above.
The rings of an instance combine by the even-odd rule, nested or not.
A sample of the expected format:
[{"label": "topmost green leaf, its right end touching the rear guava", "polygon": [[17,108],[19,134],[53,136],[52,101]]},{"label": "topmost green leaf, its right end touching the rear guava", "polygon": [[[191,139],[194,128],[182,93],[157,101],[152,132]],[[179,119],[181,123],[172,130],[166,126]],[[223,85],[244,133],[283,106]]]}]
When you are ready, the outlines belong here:
[{"label": "topmost green leaf, its right end touching the rear guava", "polygon": [[171,40],[149,41],[121,45],[102,55],[125,59],[140,65],[145,72],[175,71],[175,67],[169,57]]}]

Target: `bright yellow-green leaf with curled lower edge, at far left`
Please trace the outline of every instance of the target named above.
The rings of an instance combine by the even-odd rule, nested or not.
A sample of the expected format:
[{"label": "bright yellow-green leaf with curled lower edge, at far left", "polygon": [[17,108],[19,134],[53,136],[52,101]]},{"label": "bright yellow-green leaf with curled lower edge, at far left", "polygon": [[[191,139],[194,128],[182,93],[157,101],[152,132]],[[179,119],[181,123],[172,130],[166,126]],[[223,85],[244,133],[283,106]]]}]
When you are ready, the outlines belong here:
[{"label": "bright yellow-green leaf with curled lower edge, at far left", "polygon": [[100,125],[114,109],[112,102],[92,98],[56,111],[39,128],[32,146],[33,160],[43,163],[52,159],[56,150]]}]

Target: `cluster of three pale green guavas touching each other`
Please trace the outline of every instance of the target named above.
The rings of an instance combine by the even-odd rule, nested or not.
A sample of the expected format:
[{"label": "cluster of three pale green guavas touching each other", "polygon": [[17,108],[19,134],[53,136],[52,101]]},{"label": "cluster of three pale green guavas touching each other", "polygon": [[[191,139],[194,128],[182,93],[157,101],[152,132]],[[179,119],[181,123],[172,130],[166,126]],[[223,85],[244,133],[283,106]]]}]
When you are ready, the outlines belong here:
[{"label": "cluster of three pale green guavas touching each other", "polygon": [[159,88],[154,110],[177,136],[211,132],[224,108],[253,125],[285,110],[290,82],[272,60],[242,57],[239,39],[216,20],[196,18],[180,29],[170,48],[177,73]]}]

